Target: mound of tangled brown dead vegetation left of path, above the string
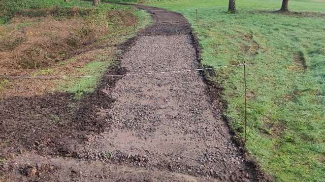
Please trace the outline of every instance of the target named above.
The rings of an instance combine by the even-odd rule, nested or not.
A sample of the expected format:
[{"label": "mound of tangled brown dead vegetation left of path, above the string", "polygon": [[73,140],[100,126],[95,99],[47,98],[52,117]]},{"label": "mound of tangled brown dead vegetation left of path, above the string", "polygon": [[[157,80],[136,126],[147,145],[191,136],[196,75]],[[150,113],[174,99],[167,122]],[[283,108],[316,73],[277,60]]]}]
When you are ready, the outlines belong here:
[{"label": "mound of tangled brown dead vegetation left of path, above the string", "polygon": [[[1,26],[4,30],[0,35],[1,67],[12,69],[49,67],[55,62],[68,59],[76,50],[95,42],[99,37],[118,31],[120,28],[116,28],[117,26],[125,27],[133,24],[131,18],[133,14],[127,11],[109,11],[90,14],[86,18],[77,16],[61,20],[52,16],[53,12],[57,11],[45,9],[37,12],[39,11],[42,13],[32,15],[49,13],[50,16],[37,18],[18,16],[12,19],[12,24]],[[74,12],[81,11],[72,8],[69,12],[76,14]],[[29,26],[23,26],[28,23]],[[4,73],[12,72],[5,70]]]}]

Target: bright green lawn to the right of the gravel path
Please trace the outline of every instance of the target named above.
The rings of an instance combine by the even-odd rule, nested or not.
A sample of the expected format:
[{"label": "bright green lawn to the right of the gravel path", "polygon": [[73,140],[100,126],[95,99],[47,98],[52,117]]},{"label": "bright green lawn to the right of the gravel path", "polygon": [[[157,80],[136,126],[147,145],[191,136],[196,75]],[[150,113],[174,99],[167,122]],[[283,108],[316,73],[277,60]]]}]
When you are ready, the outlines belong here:
[{"label": "bright green lawn to the right of the gravel path", "polygon": [[[193,26],[203,47],[203,64],[248,67],[247,149],[278,181],[325,181],[325,19],[252,12],[278,9],[277,1],[238,1],[239,13],[226,14],[227,1],[168,1],[151,5],[171,10],[199,9]],[[216,8],[217,7],[217,8]],[[300,11],[325,10],[325,2],[290,1]],[[179,11],[195,24],[193,10]],[[294,59],[295,57],[295,59]],[[304,70],[302,62],[306,62]],[[217,69],[226,114],[242,133],[243,69]]]}]

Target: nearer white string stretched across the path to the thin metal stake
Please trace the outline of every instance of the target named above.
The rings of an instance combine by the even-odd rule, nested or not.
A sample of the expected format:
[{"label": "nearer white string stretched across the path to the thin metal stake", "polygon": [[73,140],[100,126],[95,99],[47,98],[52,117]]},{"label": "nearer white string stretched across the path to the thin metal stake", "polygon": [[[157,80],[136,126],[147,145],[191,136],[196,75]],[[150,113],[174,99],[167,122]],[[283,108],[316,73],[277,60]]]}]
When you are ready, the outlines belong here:
[{"label": "nearer white string stretched across the path to the thin metal stake", "polygon": [[229,66],[218,66],[211,68],[201,68],[201,69],[189,69],[189,70],[175,70],[175,71],[164,71],[164,72],[153,72],[153,73],[129,73],[129,74],[118,74],[118,75],[93,75],[93,76],[0,76],[0,78],[91,78],[91,77],[118,77],[118,76],[137,76],[137,75],[153,75],[153,74],[174,74],[183,73],[191,71],[203,71],[217,68],[225,67],[238,67],[244,66],[244,64],[229,65]]}]

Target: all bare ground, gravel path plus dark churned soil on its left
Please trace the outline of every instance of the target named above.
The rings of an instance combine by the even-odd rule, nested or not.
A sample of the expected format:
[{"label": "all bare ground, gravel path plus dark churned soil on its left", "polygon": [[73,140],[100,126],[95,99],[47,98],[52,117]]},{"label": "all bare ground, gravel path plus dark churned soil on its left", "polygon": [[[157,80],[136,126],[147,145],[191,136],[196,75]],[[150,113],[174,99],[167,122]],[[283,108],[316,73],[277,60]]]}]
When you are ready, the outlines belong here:
[{"label": "all bare ground, gravel path plus dark churned soil on its left", "polygon": [[[137,6],[154,11],[156,8]],[[200,67],[186,19],[154,24],[120,46],[106,74]],[[67,94],[0,101],[1,181],[264,181],[222,119],[221,90],[201,72],[105,77]]]}]

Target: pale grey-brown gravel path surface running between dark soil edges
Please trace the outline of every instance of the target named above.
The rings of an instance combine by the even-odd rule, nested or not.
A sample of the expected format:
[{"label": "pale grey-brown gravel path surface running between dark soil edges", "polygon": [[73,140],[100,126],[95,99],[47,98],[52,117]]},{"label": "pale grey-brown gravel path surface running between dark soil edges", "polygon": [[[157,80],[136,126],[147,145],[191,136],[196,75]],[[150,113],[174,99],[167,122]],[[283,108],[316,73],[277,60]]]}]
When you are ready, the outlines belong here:
[{"label": "pale grey-brown gravel path surface running between dark soil edges", "polygon": [[[154,25],[140,33],[120,66],[127,73],[198,69],[186,20],[171,12],[155,12],[153,17]],[[108,124],[106,132],[89,135],[86,145],[75,147],[79,157],[107,160],[101,156],[109,151],[113,157],[107,161],[147,170],[200,180],[254,180],[220,117],[218,101],[211,100],[207,90],[198,71],[119,79],[114,88],[103,89],[116,100],[101,112]]]}]

